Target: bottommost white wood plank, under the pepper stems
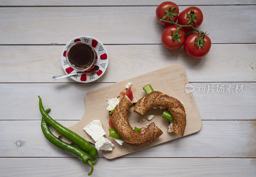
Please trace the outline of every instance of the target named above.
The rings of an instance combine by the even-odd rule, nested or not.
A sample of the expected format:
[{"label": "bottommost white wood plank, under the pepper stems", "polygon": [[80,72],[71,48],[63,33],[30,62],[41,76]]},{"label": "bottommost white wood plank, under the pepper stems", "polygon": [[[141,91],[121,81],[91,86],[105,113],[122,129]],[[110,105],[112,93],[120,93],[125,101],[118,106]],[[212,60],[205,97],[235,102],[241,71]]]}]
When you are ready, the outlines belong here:
[{"label": "bottommost white wood plank, under the pepper stems", "polygon": [[[4,176],[86,176],[77,158],[1,158]],[[117,158],[98,159],[93,176],[255,176],[256,159]]]}]

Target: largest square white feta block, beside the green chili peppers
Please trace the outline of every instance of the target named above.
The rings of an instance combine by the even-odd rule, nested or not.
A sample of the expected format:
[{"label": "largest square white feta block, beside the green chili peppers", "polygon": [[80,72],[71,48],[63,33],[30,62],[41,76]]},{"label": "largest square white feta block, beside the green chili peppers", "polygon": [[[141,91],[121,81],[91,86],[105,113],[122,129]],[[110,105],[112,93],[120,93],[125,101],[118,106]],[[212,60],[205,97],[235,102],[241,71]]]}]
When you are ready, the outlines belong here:
[{"label": "largest square white feta block, beside the green chili peppers", "polygon": [[94,141],[98,141],[101,136],[106,134],[102,128],[100,120],[93,120],[90,122],[84,127],[84,131],[88,133],[88,135],[90,135]]}]

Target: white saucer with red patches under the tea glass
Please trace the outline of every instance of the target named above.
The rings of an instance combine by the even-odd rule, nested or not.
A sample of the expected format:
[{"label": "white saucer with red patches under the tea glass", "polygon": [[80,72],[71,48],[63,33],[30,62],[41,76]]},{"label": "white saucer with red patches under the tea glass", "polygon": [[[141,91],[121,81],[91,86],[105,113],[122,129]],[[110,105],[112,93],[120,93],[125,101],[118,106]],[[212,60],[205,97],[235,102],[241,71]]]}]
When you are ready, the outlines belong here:
[{"label": "white saucer with red patches under the tea glass", "polygon": [[71,68],[68,65],[68,62],[66,60],[66,52],[67,52],[68,47],[72,43],[77,42],[77,41],[87,42],[94,48],[94,50],[96,51],[96,53],[98,55],[98,61],[97,61],[96,65],[100,67],[100,70],[94,75],[76,74],[75,76],[72,76],[70,78],[77,81],[77,82],[83,82],[83,83],[88,83],[88,82],[95,81],[105,73],[105,71],[108,67],[108,52],[107,52],[106,48],[104,47],[104,45],[99,40],[97,40],[93,37],[79,36],[79,37],[76,37],[76,38],[72,39],[71,41],[69,41],[65,45],[65,47],[64,47],[64,49],[61,53],[62,68],[64,69],[64,71],[67,74],[77,72],[77,70],[74,70],[73,68]]}]

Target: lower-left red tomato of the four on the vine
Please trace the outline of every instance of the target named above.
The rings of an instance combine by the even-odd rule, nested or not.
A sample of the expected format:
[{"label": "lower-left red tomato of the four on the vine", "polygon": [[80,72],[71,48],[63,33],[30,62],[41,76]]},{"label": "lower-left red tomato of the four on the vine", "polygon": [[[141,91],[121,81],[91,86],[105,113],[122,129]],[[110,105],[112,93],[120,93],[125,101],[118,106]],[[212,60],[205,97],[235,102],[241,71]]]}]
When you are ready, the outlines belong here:
[{"label": "lower-left red tomato of the four on the vine", "polygon": [[172,39],[172,32],[170,30],[172,30],[172,32],[175,33],[177,30],[177,26],[170,25],[164,29],[164,31],[162,33],[162,43],[163,43],[164,47],[169,48],[169,49],[180,48],[184,44],[184,40],[185,40],[184,29],[180,28],[180,31],[179,31],[179,34],[181,34],[181,37],[180,37],[181,42],[180,43],[177,42],[177,40],[174,41]]}]

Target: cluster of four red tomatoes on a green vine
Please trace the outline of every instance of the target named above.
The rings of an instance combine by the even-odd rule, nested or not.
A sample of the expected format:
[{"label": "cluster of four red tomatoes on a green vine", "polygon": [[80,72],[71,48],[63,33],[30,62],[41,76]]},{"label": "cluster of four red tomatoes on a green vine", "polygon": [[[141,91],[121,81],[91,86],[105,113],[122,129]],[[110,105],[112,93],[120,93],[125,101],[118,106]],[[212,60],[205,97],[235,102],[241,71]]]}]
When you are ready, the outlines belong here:
[{"label": "cluster of four red tomatoes on a green vine", "polygon": [[[173,9],[175,10],[173,11]],[[172,12],[172,14],[173,13],[178,14],[179,7],[177,4],[169,1],[161,3],[156,8],[157,20],[164,18],[164,16],[167,14],[166,11]],[[194,19],[190,18],[191,16],[193,17],[193,15],[194,17],[196,15],[196,17]],[[166,22],[166,21],[172,21],[170,17],[172,17],[172,20],[174,23],[176,23],[176,21],[178,20],[178,24],[173,25],[172,23]],[[167,26],[162,33],[162,43],[164,47],[168,49],[177,49],[184,44],[184,50],[188,55],[190,55],[193,58],[203,58],[210,51],[210,48],[212,46],[211,39],[204,34],[201,34],[199,39],[199,33],[192,33],[185,39],[185,31],[194,30],[188,25],[192,24],[194,28],[197,28],[202,24],[203,19],[204,19],[203,13],[199,8],[188,7],[187,9],[182,11],[179,15],[169,14],[169,16],[164,18],[165,21],[160,20],[159,23],[161,25]],[[179,37],[179,41],[177,39],[174,40],[172,35],[172,34],[175,34],[177,28],[179,28],[177,25],[186,25],[178,29],[178,33],[176,35],[179,35],[179,36],[181,35]],[[199,43],[197,42],[198,40],[200,41],[199,42],[200,44],[201,43],[203,44],[199,45]]]}]

